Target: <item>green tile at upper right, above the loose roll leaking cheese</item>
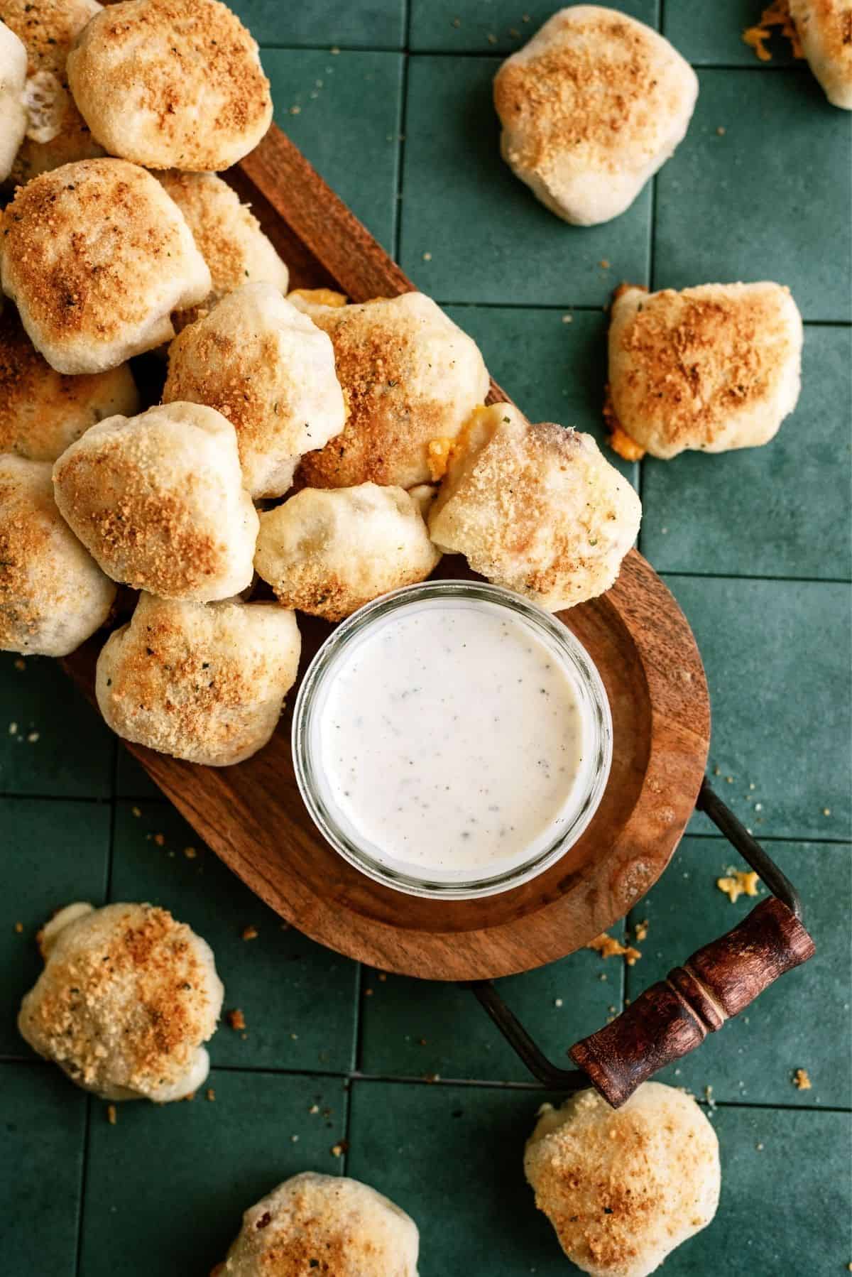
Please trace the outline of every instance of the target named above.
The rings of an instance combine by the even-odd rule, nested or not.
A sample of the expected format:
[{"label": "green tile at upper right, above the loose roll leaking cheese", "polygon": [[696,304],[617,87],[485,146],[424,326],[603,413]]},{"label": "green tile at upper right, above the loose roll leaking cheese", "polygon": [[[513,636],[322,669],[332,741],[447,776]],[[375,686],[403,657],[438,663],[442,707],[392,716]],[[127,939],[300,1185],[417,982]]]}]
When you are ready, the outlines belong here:
[{"label": "green tile at upper right, above the loose roll leaking cheese", "polygon": [[654,287],[777,280],[806,319],[848,323],[852,115],[798,69],[699,79],[690,130],[657,178]]}]

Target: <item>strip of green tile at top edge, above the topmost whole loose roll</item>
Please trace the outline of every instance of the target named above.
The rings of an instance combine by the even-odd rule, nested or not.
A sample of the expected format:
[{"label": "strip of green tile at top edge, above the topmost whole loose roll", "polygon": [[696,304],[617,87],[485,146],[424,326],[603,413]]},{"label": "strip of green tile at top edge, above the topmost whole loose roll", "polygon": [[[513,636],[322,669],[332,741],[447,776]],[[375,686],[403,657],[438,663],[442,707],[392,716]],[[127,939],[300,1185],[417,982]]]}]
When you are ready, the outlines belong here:
[{"label": "strip of green tile at top edge, above the topmost whole loose roll", "polygon": [[[411,0],[409,47],[447,54],[512,54],[554,13],[540,0]],[[657,26],[658,0],[625,0],[622,13]]]}]

